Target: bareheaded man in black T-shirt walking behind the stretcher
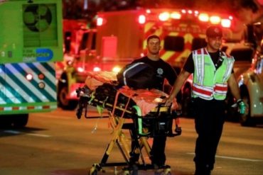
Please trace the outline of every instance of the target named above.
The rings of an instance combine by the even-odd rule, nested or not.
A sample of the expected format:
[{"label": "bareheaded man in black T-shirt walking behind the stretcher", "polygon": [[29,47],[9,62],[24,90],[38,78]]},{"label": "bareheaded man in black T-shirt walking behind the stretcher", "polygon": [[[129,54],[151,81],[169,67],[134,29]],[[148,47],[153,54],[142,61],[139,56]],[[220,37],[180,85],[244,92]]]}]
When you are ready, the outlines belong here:
[{"label": "bareheaded man in black T-shirt walking behind the stretcher", "polygon": [[[177,77],[176,72],[173,69],[173,67],[171,67],[170,64],[163,61],[159,57],[159,51],[161,49],[161,40],[159,36],[150,35],[147,38],[146,47],[148,50],[147,55],[145,57],[141,57],[137,60],[134,60],[134,62],[144,62],[146,64],[151,65],[151,67],[154,68],[156,74],[155,74],[154,84],[152,84],[154,86],[152,88],[163,91],[164,79],[167,79],[168,83],[171,86],[173,86]],[[165,147],[166,147],[166,136],[154,137],[154,142],[151,147],[152,164],[156,164],[157,166],[163,166],[165,164],[166,162]]]}]

